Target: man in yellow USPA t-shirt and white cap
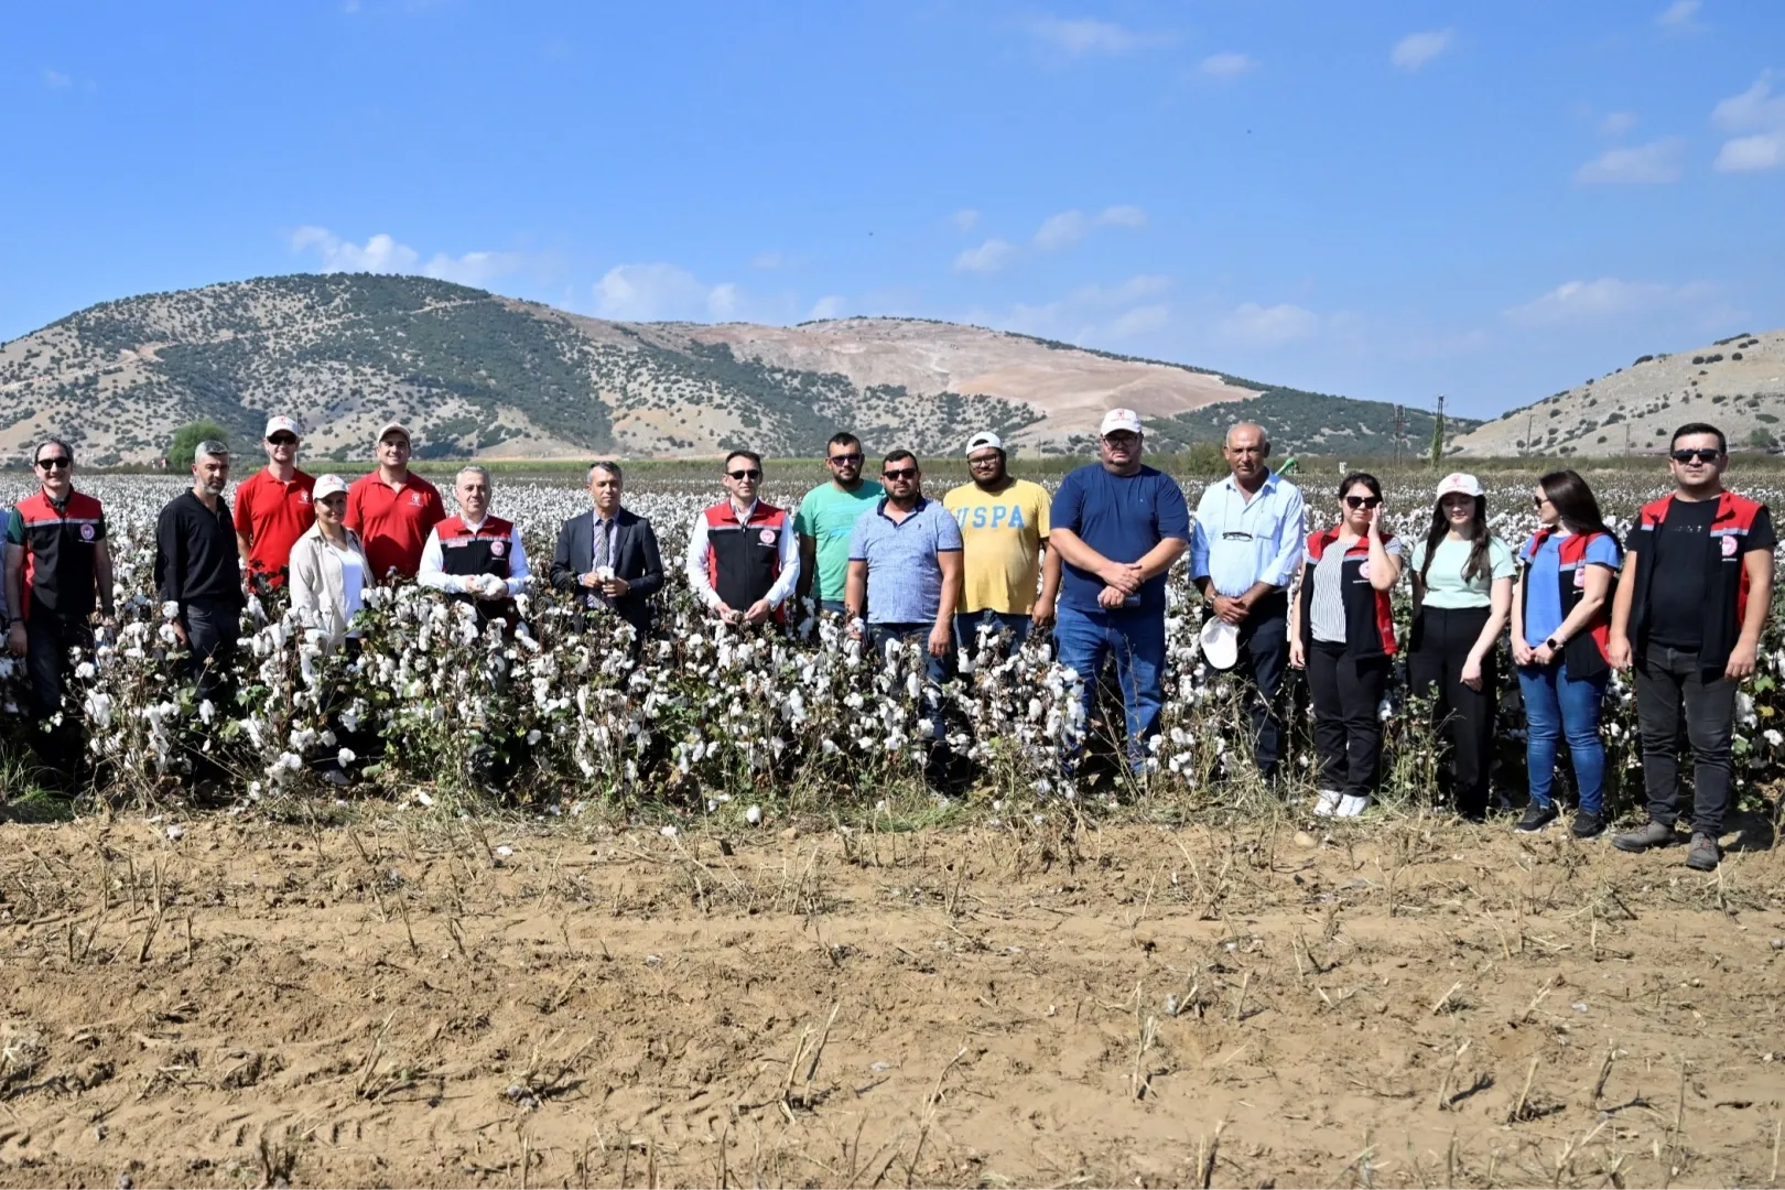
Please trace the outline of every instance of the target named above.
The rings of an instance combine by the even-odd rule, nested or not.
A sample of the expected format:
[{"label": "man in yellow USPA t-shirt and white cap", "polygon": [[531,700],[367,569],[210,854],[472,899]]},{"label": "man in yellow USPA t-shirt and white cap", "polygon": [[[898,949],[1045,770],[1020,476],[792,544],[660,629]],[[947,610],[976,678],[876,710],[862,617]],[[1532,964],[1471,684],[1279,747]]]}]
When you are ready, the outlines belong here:
[{"label": "man in yellow USPA t-shirt and white cap", "polygon": [[967,441],[967,469],[973,482],[942,498],[966,546],[955,639],[960,648],[976,648],[980,628],[989,626],[1009,630],[1017,648],[1032,626],[1053,623],[1053,599],[1060,591],[1060,560],[1046,550],[1053,501],[1041,483],[1010,476],[1003,441],[989,430]]}]

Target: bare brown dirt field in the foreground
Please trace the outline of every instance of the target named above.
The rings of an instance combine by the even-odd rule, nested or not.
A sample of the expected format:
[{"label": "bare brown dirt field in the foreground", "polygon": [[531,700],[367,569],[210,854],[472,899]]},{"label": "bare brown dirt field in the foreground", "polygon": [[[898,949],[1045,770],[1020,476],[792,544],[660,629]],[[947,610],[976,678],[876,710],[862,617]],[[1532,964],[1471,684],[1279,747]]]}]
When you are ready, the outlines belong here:
[{"label": "bare brown dirt field in the foreground", "polygon": [[0,828],[0,1185],[1778,1176],[1778,851],[580,822]]}]

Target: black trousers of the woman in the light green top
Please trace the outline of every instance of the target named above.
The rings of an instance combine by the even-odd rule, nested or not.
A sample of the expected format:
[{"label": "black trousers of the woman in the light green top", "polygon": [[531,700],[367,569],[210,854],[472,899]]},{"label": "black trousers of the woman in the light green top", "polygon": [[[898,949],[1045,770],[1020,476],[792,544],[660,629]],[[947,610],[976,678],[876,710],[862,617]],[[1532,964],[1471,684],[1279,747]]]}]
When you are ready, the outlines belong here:
[{"label": "black trousers of the woman in the light green top", "polygon": [[1407,682],[1416,698],[1432,699],[1432,721],[1449,746],[1451,797],[1467,817],[1487,814],[1499,649],[1482,658],[1480,690],[1462,683],[1462,667],[1489,616],[1485,607],[1421,607],[1407,653]]}]

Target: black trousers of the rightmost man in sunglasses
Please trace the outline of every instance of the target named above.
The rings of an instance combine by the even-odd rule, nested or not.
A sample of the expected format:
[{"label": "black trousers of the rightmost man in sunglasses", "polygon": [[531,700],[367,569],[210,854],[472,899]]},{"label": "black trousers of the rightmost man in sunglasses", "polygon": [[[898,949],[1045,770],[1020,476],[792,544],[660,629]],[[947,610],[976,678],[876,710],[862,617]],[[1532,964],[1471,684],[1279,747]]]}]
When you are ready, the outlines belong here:
[{"label": "black trousers of the rightmost man in sunglasses", "polygon": [[1698,653],[1649,644],[1637,658],[1637,726],[1649,821],[1680,821],[1680,719],[1692,746],[1692,833],[1721,835],[1730,812],[1735,682],[1705,680]]}]

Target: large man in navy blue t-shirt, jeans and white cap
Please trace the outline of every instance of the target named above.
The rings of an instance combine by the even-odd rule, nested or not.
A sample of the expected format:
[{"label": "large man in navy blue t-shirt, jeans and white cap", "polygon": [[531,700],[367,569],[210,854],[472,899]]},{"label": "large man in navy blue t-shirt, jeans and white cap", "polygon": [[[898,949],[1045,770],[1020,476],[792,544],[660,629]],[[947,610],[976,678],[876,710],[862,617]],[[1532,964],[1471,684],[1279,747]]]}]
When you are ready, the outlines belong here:
[{"label": "large man in navy blue t-shirt, jeans and white cap", "polygon": [[1089,714],[1114,655],[1135,771],[1166,696],[1166,571],[1191,548],[1183,489],[1141,464],[1142,446],[1137,412],[1107,412],[1100,460],[1060,480],[1048,533],[1064,562],[1053,626],[1060,664],[1083,678]]}]

